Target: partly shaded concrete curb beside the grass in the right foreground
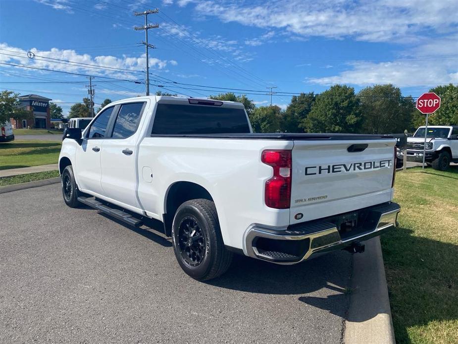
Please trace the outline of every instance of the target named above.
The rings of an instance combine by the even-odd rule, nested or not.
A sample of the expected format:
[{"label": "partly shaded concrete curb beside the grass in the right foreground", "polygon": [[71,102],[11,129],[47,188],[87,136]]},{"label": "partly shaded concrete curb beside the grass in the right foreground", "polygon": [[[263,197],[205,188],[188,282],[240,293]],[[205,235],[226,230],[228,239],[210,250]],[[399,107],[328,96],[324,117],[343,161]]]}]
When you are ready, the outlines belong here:
[{"label": "partly shaded concrete curb beside the grass in the right foreground", "polygon": [[346,344],[395,344],[390,299],[379,237],[353,255],[352,294],[345,322]]}]

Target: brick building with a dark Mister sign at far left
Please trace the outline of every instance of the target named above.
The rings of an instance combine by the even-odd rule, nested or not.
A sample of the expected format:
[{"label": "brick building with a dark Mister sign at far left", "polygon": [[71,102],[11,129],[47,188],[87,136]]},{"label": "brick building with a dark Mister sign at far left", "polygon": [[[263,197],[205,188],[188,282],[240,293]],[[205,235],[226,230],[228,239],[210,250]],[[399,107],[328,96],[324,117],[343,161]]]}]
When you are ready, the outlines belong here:
[{"label": "brick building with a dark Mister sign at far left", "polygon": [[26,110],[33,111],[33,118],[31,119],[10,119],[11,125],[15,129],[27,128],[40,128],[49,129],[51,128],[51,116],[50,116],[50,98],[38,96],[36,94],[28,94],[25,96],[17,97],[21,103],[21,107]]}]

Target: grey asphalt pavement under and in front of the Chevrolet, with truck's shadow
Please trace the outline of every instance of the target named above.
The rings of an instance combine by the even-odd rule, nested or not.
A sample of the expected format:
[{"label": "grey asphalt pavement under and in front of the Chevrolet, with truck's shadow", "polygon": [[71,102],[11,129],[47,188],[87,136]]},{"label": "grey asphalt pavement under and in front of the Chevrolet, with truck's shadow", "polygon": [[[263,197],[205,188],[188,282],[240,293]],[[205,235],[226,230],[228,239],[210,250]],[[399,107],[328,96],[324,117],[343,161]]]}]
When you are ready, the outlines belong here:
[{"label": "grey asphalt pavement under and in front of the Chevrolet, with truck's shadow", "polygon": [[158,224],[68,208],[60,184],[0,195],[0,219],[0,343],[342,342],[347,252],[294,266],[237,256],[202,283]]}]

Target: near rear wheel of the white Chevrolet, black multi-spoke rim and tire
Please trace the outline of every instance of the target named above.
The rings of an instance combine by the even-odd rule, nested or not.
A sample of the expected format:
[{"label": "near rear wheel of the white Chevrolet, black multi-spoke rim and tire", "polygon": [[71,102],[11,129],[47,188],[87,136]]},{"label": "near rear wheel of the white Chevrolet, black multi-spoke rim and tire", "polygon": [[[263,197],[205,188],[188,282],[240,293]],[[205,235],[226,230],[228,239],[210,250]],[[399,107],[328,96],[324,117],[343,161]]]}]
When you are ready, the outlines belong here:
[{"label": "near rear wheel of the white Chevrolet, black multi-spoke rim and tire", "polygon": [[175,257],[183,271],[198,281],[224,274],[232,252],[224,247],[216,208],[207,199],[192,199],[178,207],[173,218]]}]

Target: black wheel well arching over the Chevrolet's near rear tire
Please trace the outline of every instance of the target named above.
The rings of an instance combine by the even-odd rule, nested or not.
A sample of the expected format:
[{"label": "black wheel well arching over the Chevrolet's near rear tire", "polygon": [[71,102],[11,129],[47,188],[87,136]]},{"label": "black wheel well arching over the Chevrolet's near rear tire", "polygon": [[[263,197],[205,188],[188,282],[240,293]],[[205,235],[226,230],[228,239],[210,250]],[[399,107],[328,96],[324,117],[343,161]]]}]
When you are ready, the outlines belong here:
[{"label": "black wheel well arching over the Chevrolet's near rear tire", "polygon": [[178,207],[186,201],[197,198],[213,201],[210,193],[203,186],[190,181],[178,181],[169,188],[165,200],[165,214],[162,216],[166,235],[172,235],[173,217]]}]

